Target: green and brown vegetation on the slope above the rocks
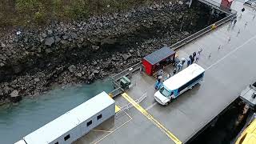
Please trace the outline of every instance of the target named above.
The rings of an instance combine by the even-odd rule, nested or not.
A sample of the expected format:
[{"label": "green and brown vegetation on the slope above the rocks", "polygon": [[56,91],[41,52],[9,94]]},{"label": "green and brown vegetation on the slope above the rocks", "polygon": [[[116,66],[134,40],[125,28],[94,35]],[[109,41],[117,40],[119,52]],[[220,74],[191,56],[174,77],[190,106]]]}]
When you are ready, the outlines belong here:
[{"label": "green and brown vegetation on the slope above the rocks", "polygon": [[127,10],[157,0],[2,0],[0,27],[43,25]]}]

